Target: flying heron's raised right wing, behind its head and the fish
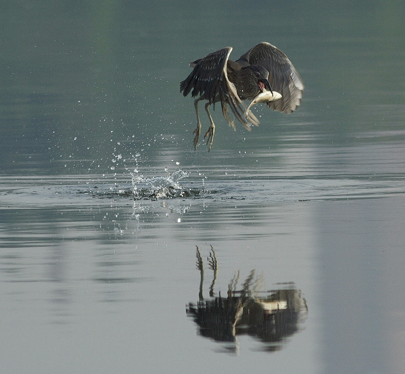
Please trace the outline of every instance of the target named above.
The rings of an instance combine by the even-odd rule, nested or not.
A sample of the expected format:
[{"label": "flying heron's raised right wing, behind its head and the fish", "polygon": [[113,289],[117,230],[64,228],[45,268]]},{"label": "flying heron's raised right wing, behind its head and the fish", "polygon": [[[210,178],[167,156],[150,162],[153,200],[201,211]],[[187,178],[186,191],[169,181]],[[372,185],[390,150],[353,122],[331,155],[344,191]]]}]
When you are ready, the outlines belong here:
[{"label": "flying heron's raised right wing, behind its head and the fish", "polygon": [[240,56],[237,62],[261,65],[269,72],[269,83],[281,99],[267,103],[273,110],[292,113],[301,104],[304,82],[288,57],[270,43],[263,42]]}]

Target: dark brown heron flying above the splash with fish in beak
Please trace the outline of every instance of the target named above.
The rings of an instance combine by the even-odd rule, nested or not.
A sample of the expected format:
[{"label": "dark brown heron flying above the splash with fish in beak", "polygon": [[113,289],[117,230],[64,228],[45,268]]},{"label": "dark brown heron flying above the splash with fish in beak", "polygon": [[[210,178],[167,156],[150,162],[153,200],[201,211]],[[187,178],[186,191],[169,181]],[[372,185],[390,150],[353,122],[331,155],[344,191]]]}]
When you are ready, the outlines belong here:
[{"label": "dark brown heron flying above the splash with fish in beak", "polygon": [[[222,114],[229,126],[235,130],[235,124],[228,105],[235,117],[251,130],[259,121],[249,110],[257,102],[266,102],[267,106],[282,113],[292,113],[301,104],[304,83],[288,57],[270,43],[263,42],[250,49],[238,60],[229,60],[232,47],[222,48],[190,63],[193,67],[190,75],[180,83],[180,92],[187,96],[198,96],[194,100],[197,128],[194,130],[194,147],[197,147],[201,132],[198,116],[198,101],[208,100],[205,105],[210,128],[207,144],[212,147],[215,125],[208,109],[209,105],[221,102]],[[252,100],[249,106],[243,100]]]}]

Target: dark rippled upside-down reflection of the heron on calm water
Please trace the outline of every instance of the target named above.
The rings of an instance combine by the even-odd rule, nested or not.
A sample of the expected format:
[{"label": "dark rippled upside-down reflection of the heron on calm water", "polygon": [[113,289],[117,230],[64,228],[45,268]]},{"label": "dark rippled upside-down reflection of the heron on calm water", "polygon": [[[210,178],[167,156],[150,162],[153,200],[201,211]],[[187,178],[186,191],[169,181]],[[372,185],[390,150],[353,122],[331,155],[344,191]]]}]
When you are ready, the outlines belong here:
[{"label": "dark rippled upside-down reflection of the heron on calm water", "polygon": [[238,353],[237,335],[249,334],[263,343],[261,350],[272,352],[281,349],[285,338],[301,329],[308,308],[294,283],[263,291],[263,276],[257,276],[255,270],[240,286],[239,272],[236,272],[228,285],[227,296],[222,297],[220,292],[215,296],[218,262],[211,246],[208,265],[214,276],[210,297],[204,298],[204,266],[198,247],[196,255],[200,272],[199,301],[189,303],[186,312],[198,325],[201,336],[227,343],[226,352]]}]

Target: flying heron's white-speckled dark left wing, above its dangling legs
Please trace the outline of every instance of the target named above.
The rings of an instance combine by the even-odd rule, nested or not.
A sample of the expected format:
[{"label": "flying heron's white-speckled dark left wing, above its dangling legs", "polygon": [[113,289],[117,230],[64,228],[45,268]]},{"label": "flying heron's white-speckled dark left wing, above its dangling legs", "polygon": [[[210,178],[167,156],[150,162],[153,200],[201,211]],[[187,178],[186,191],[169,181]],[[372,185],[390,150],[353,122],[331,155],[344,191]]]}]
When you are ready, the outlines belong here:
[{"label": "flying heron's white-speckled dark left wing, above its dangling legs", "polygon": [[237,95],[235,85],[229,81],[227,63],[232,47],[222,48],[210,53],[204,58],[190,63],[193,70],[189,76],[180,83],[180,92],[187,96],[201,96],[210,104],[221,101],[222,114],[228,124],[235,129],[235,124],[230,118],[227,104],[232,109],[235,117],[250,130],[250,123],[258,125],[259,121],[250,112],[247,119],[244,117],[246,104]]}]

